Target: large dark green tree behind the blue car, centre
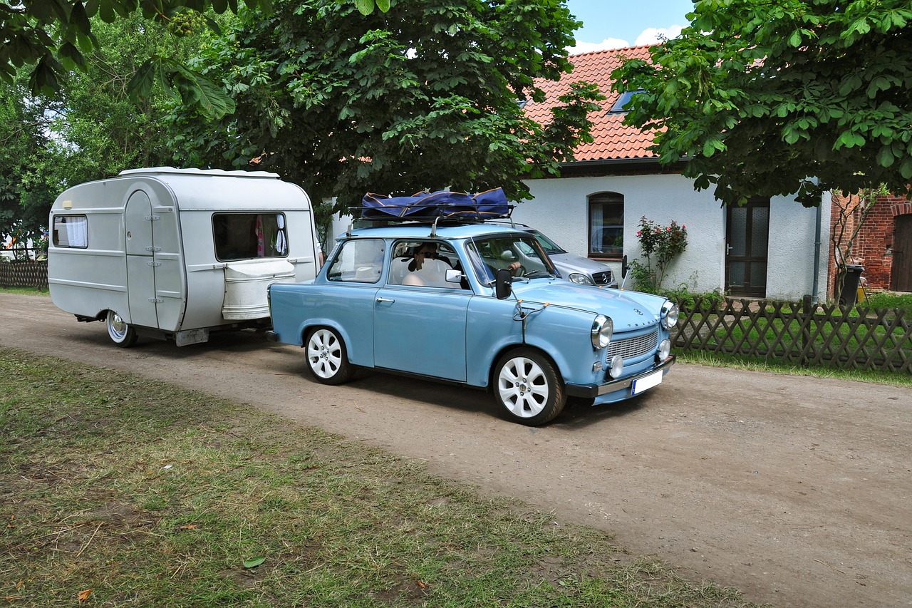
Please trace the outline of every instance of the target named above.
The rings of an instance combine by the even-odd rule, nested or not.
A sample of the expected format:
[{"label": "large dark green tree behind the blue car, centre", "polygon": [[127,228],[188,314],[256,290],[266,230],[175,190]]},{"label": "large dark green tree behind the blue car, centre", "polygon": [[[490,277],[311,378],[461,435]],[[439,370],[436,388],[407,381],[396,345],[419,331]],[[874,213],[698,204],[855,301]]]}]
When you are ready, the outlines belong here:
[{"label": "large dark green tree behind the blue car, centre", "polygon": [[393,1],[362,16],[329,0],[281,1],[270,15],[241,11],[212,37],[199,64],[221,75],[236,110],[218,129],[192,117],[173,143],[193,166],[248,166],[301,183],[337,209],[368,191],[413,194],[503,187],[558,171],[588,138],[586,113],[602,99],[579,84],[539,125],[523,100],[535,79],[571,69],[565,47],[578,23],[562,0]]}]

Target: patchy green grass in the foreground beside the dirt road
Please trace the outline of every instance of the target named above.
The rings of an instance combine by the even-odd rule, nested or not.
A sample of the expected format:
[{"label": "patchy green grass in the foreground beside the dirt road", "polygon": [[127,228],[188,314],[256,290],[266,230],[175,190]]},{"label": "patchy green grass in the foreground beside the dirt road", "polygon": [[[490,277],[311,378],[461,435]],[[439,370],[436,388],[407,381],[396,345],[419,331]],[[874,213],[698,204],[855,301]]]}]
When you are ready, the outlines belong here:
[{"label": "patchy green grass in the foreground beside the dirt road", "polygon": [[12,606],[747,605],[244,404],[8,349],[0,395]]}]

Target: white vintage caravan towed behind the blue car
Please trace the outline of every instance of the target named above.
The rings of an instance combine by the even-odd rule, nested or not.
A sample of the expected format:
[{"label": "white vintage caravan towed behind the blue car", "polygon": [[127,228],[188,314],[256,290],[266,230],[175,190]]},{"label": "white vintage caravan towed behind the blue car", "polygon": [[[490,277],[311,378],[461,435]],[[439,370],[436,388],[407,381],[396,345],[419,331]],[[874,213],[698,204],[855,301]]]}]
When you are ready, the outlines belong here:
[{"label": "white vintage caravan towed behind the blue car", "polygon": [[320,264],[310,199],[275,173],[123,171],[60,194],[48,225],[54,304],[105,321],[123,347],[267,329],[269,284],[314,278]]}]

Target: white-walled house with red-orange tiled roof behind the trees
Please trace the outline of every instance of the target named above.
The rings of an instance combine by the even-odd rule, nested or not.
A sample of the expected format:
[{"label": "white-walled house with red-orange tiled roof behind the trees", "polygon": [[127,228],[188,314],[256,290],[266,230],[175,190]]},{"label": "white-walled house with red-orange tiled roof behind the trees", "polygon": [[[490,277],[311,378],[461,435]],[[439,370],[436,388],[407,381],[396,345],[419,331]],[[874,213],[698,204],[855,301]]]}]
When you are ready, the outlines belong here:
[{"label": "white-walled house with red-orange tiled roof behind the trees", "polygon": [[517,205],[513,218],[542,228],[570,253],[604,261],[618,277],[622,258],[640,255],[640,218],[659,225],[674,220],[687,226],[688,246],[672,263],[663,287],[825,300],[830,205],[808,209],[792,198],[775,197],[727,208],[711,190],[695,191],[679,169],[659,165],[648,151],[651,136],[622,123],[626,100],[611,91],[612,70],[627,58],[648,57],[648,47],[571,56],[571,74],[538,83],[546,100],[524,108],[536,121],[548,120],[552,104],[572,82],[595,82],[607,99],[603,110],[589,116],[594,142],[576,149],[575,161],[565,162],[559,178],[527,180],[534,198]]}]

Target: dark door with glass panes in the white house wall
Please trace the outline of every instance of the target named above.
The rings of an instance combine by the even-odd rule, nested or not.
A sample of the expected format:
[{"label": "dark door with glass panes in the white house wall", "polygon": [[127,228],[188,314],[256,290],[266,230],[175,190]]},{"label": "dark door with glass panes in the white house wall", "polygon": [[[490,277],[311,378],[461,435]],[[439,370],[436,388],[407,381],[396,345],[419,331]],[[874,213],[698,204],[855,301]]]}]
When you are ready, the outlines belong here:
[{"label": "dark door with glass panes in the white house wall", "polygon": [[744,298],[766,297],[770,200],[752,200],[727,212],[725,291]]}]

